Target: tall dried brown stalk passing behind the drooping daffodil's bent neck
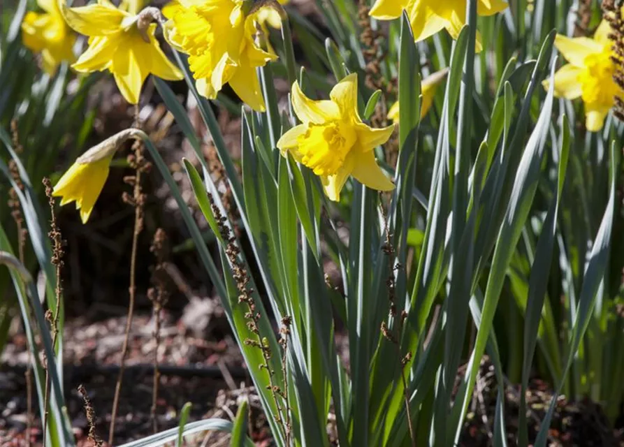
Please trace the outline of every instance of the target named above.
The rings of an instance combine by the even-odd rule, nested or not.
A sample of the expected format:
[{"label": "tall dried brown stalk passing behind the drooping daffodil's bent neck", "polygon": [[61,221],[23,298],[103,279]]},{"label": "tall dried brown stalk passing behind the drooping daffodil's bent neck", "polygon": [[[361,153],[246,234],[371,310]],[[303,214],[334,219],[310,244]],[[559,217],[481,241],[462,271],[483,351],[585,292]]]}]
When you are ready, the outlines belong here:
[{"label": "tall dried brown stalk passing behind the drooping daffodil's bent neck", "polygon": [[[138,125],[138,105],[135,107],[135,125]],[[117,376],[117,383],[115,383],[115,397],[113,398],[113,411],[111,412],[110,429],[108,431],[108,444],[113,445],[113,439],[115,435],[115,419],[117,418],[117,409],[119,407],[119,395],[122,390],[122,379],[124,377],[124,367],[126,362],[126,356],[128,356],[128,345],[130,340],[130,330],[132,328],[132,318],[134,314],[134,302],[136,298],[136,251],[138,247],[138,237],[143,231],[143,208],[145,206],[145,194],[141,188],[141,174],[147,173],[150,170],[151,164],[143,157],[143,143],[140,140],[136,140],[133,145],[133,154],[128,156],[129,165],[134,168],[135,175],[125,177],[124,182],[134,186],[133,196],[124,192],[122,200],[125,203],[129,203],[134,207],[134,230],[132,234],[132,249],[130,253],[130,285],[128,288],[129,302],[128,302],[128,316],[126,319],[126,332],[124,337],[124,344],[122,346],[122,358],[120,360],[119,375]]]}]

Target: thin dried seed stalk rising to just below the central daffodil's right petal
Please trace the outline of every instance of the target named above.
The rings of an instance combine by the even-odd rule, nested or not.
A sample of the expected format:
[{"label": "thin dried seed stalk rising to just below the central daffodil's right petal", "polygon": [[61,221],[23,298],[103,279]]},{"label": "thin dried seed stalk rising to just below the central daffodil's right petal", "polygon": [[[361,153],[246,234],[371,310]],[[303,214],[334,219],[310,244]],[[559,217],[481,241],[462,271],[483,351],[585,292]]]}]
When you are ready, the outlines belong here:
[{"label": "thin dried seed stalk rising to just below the central daffodil's right petal", "polygon": [[[396,346],[397,350],[397,358],[399,361],[399,368],[401,372],[401,381],[403,386],[403,401],[405,402],[405,413],[407,414],[407,428],[409,429],[409,438],[412,440],[412,447],[416,447],[416,437],[414,435],[414,427],[412,424],[412,413],[409,410],[409,393],[407,392],[407,379],[405,378],[405,365],[412,360],[412,353],[407,352],[405,356],[402,353],[402,332],[403,332],[403,323],[405,323],[405,319],[407,318],[407,312],[405,310],[401,311],[400,316],[397,314],[396,309],[396,279],[394,276],[394,271],[399,270],[402,266],[397,263],[394,265],[395,261],[395,249],[392,245],[390,227],[388,223],[388,216],[386,215],[386,210],[384,210],[383,205],[379,205],[382,211],[382,216],[384,217],[384,231],[386,233],[386,242],[384,244],[384,254],[388,256],[388,264],[390,267],[390,271],[388,274],[388,279],[386,280],[386,286],[388,288],[388,300],[390,304],[390,312],[389,316],[396,321],[396,332],[392,333],[388,325],[385,321],[382,322],[382,334],[384,337],[389,340],[392,344]],[[397,321],[397,317],[398,321]]]}]

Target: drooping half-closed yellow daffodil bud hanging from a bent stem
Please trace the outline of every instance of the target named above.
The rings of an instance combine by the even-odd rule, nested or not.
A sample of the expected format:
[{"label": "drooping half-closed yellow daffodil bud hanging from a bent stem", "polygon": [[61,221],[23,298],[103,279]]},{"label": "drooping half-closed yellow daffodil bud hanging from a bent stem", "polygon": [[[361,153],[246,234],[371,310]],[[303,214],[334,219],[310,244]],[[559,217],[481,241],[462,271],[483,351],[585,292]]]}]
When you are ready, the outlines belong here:
[{"label": "drooping half-closed yellow daffodil bud hanging from a bent stem", "polygon": [[[56,184],[53,196],[61,197],[61,206],[75,201],[82,223],[87,223],[110,170],[112,154],[85,161],[79,158]],[[86,155],[86,154],[85,154]]]}]

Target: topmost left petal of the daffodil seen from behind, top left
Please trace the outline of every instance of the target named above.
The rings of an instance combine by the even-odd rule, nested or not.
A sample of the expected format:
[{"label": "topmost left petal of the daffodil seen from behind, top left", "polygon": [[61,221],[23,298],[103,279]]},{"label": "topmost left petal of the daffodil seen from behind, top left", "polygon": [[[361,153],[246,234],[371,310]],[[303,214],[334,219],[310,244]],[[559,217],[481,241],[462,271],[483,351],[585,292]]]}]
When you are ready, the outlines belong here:
[{"label": "topmost left petal of the daffodil seen from behind, top left", "polygon": [[58,0],[61,13],[67,24],[85,36],[107,36],[119,32],[122,20],[127,14],[110,6],[93,4],[79,8],[68,8],[66,0]]}]

